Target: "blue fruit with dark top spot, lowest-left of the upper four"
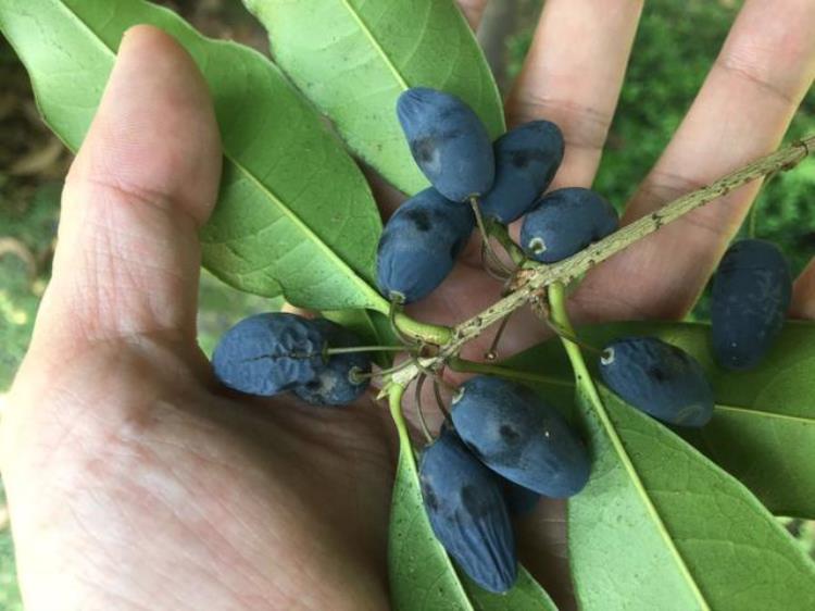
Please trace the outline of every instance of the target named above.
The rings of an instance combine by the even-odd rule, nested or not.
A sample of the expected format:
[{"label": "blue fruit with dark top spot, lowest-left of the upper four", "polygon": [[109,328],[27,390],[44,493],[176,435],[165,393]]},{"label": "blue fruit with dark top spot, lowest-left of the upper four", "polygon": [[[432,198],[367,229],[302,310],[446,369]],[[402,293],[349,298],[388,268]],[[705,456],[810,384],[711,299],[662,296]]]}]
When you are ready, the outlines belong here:
[{"label": "blue fruit with dark top spot, lowest-left of the upper four", "polygon": [[432,187],[413,196],[390,217],[376,258],[379,290],[405,303],[430,294],[453,269],[466,246],[475,217]]}]

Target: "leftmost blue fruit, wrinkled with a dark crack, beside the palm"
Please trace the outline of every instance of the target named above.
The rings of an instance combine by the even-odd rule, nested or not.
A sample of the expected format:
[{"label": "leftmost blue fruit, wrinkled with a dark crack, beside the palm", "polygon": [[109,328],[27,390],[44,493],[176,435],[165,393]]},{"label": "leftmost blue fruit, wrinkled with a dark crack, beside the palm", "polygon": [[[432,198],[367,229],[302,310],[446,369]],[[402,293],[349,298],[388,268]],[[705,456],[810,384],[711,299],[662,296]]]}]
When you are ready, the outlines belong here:
[{"label": "leftmost blue fruit, wrinkled with a dark crack, beside the palm", "polygon": [[215,376],[229,388],[271,397],[313,379],[324,338],[308,319],[276,312],[242,320],[215,347]]}]

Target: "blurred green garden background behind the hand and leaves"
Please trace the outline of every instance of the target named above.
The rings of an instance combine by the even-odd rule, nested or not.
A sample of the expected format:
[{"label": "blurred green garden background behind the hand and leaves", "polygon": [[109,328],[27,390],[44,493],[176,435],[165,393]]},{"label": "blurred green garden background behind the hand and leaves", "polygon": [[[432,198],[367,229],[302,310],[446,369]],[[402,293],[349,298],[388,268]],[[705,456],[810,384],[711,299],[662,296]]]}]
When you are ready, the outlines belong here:
[{"label": "blurred green garden background behind the hand and leaves", "polygon": [[[264,32],[239,0],[159,2],[209,36],[267,52]],[[542,0],[493,0],[479,39],[505,91],[519,72]],[[650,0],[640,23],[626,83],[594,188],[622,208],[656,161],[713,63],[740,0]],[[815,89],[787,140],[815,134]],[[40,296],[48,284],[61,180],[71,153],[40,121],[28,77],[0,36],[0,417],[4,396],[25,353]],[[815,254],[815,159],[781,174],[762,191],[756,236],[783,248],[795,273]],[[692,317],[704,320],[702,299]],[[268,308],[204,273],[199,336],[209,351],[237,320]],[[783,520],[811,553],[815,523]],[[0,611],[22,610],[5,497],[0,482]]]}]

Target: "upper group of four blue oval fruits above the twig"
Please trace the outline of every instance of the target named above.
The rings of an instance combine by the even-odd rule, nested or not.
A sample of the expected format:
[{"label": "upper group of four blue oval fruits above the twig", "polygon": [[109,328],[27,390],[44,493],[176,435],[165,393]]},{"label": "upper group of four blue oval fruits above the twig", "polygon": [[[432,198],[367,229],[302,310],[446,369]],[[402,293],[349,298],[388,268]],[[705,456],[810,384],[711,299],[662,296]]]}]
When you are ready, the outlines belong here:
[{"label": "upper group of four blue oval fruits above the twig", "polygon": [[479,216],[504,225],[524,216],[523,249],[542,263],[566,259],[617,228],[614,208],[594,191],[569,187],[541,197],[563,160],[554,123],[525,123],[492,144],[467,104],[425,87],[402,93],[397,114],[431,186],[385,226],[377,280],[388,299],[412,303],[432,292]]}]

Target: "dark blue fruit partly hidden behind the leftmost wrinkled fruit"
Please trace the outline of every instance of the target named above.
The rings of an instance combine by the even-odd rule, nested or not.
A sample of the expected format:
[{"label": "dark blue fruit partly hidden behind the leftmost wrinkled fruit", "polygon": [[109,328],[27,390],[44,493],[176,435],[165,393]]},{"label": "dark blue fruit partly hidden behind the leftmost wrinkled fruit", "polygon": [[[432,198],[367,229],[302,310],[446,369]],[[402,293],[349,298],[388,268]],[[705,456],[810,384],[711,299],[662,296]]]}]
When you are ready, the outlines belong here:
[{"label": "dark blue fruit partly hidden behind the leftmost wrinkled fruit", "polygon": [[[360,346],[360,339],[344,327],[327,320],[312,321],[326,341],[327,348],[351,348]],[[316,367],[314,379],[296,386],[293,392],[315,406],[346,406],[356,400],[369,385],[369,378],[359,379],[355,374],[371,372],[371,354],[366,352],[342,352],[329,354]]]}]

